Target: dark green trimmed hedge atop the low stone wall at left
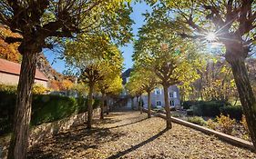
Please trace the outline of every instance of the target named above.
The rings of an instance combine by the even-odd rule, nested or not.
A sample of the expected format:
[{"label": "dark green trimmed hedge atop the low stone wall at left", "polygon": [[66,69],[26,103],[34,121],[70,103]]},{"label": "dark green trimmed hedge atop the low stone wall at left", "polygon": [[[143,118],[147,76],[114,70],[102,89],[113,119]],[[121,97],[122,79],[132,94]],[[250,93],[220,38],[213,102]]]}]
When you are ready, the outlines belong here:
[{"label": "dark green trimmed hedge atop the low stone wall at left", "polygon": [[[0,92],[0,135],[9,133],[15,112],[15,94]],[[99,101],[94,102],[96,108]],[[87,99],[52,94],[34,94],[32,100],[31,125],[54,122],[71,114],[87,111]]]}]

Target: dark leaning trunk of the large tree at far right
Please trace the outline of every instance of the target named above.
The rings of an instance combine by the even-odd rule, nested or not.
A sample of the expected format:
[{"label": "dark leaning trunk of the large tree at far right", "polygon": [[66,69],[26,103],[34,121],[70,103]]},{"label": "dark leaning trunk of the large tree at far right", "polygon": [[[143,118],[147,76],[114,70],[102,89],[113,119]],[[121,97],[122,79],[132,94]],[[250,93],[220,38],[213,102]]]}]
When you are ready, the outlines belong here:
[{"label": "dark leaning trunk of the large tree at far right", "polygon": [[249,75],[244,60],[229,62],[238,88],[243,113],[246,116],[251,141],[256,146],[256,100],[253,95]]}]

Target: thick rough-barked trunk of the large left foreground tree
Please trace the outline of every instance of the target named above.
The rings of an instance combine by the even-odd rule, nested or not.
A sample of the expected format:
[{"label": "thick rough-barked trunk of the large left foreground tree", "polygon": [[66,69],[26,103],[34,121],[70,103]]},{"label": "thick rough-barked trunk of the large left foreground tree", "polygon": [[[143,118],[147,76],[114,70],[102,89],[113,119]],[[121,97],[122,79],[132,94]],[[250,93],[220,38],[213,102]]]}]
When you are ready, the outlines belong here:
[{"label": "thick rough-barked trunk of the large left foreground tree", "polygon": [[23,54],[8,159],[26,158],[31,119],[32,86],[36,75],[36,55],[32,53]]}]

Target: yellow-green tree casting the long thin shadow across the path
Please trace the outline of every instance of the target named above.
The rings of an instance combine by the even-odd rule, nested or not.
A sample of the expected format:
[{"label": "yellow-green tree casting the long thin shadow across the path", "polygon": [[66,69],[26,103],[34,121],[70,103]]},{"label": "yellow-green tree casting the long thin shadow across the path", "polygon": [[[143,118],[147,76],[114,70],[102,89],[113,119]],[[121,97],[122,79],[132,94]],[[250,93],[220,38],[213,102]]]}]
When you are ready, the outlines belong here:
[{"label": "yellow-green tree casting the long thin shadow across the path", "polygon": [[194,45],[182,41],[174,34],[172,28],[166,25],[164,19],[148,18],[138,34],[135,46],[134,60],[139,65],[154,72],[163,86],[167,129],[171,128],[169,93],[173,84],[188,84],[198,75],[194,69],[196,53]]}]

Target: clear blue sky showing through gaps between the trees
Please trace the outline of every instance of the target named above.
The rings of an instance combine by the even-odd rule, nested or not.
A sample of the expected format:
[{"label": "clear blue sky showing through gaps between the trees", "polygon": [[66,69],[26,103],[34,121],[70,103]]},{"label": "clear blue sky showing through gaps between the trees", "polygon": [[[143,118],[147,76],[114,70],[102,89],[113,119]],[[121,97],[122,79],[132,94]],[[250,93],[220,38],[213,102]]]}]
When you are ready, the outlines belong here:
[{"label": "clear blue sky showing through gaps between the trees", "polygon": [[[135,22],[134,25],[132,25],[133,28],[133,34],[138,34],[138,28],[145,24],[144,17],[142,14],[146,13],[147,11],[150,12],[151,8],[150,6],[143,3],[132,3],[133,7],[133,13],[130,15],[131,19]],[[133,43],[129,43],[126,46],[123,46],[120,48],[121,52],[123,53],[125,62],[124,67],[125,70],[130,68],[132,66],[132,59],[131,55],[133,54]],[[53,68],[56,69],[57,72],[62,73],[65,70],[65,62],[63,60],[57,59],[59,56],[57,53],[51,50],[44,50],[44,54],[46,55],[47,60],[50,64],[52,64]],[[124,71],[125,71],[124,70]]]}]

